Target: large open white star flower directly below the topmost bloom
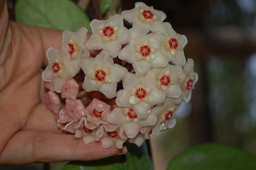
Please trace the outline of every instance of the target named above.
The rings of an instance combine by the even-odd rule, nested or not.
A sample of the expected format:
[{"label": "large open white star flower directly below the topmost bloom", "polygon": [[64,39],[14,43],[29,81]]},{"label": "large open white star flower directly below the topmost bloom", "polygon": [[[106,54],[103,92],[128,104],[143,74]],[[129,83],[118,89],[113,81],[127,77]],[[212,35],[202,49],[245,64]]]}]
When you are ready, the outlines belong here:
[{"label": "large open white star flower directly below the topmost bloom", "polygon": [[135,74],[142,77],[152,67],[165,67],[168,58],[161,50],[163,36],[160,33],[143,33],[129,30],[129,44],[118,54],[119,59],[132,64]]}]

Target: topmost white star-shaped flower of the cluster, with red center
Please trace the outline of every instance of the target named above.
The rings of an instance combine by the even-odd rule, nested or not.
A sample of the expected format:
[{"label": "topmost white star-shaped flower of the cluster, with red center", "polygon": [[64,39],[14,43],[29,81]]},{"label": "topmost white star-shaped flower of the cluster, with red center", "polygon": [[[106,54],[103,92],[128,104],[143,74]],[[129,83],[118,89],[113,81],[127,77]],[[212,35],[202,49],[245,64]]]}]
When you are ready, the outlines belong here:
[{"label": "topmost white star-shaped flower of the cluster, with red center", "polygon": [[163,25],[163,20],[166,19],[166,14],[163,11],[158,11],[149,7],[143,2],[136,2],[134,9],[122,11],[121,15],[125,20],[132,23],[133,28],[139,32],[161,32],[166,33]]}]

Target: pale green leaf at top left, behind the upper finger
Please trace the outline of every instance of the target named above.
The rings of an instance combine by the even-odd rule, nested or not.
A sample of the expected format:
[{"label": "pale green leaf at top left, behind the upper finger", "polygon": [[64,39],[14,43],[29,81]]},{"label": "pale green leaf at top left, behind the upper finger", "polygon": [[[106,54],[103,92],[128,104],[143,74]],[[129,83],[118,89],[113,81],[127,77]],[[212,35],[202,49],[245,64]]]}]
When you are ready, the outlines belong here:
[{"label": "pale green leaf at top left, behind the upper finger", "polygon": [[27,25],[72,31],[86,27],[91,32],[87,15],[70,0],[18,0],[15,18]]}]

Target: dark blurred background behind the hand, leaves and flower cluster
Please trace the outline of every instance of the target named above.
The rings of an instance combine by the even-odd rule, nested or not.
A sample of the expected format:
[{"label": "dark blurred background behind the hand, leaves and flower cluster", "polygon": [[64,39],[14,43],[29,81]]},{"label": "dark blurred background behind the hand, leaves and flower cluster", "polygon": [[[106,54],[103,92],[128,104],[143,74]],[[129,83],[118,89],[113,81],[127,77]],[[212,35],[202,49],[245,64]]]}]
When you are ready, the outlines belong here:
[{"label": "dark blurred background behind the hand, leaves and flower cluster", "polygon": [[[89,19],[103,19],[97,9],[99,1],[73,2],[82,7]],[[15,2],[8,1],[12,20],[15,20]],[[118,1],[117,9],[132,9],[135,2]],[[164,11],[174,30],[187,36],[184,52],[186,57],[194,59],[199,77],[192,100],[176,114],[176,126],[151,137],[155,169],[166,169],[174,156],[199,143],[223,143],[256,154],[256,1],[144,2]],[[19,169],[58,167],[58,164],[31,164]],[[15,169],[0,166],[8,168]]]}]

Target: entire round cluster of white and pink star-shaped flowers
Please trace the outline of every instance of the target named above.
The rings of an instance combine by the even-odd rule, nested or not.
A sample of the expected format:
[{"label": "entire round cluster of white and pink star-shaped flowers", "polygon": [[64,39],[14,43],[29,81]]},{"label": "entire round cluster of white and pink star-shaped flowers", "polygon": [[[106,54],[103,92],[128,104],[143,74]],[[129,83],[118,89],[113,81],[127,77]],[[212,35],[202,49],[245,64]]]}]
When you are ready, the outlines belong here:
[{"label": "entire round cluster of white and pink star-shaped flowers", "polygon": [[85,144],[122,148],[126,141],[140,146],[149,134],[175,125],[198,75],[184,56],[186,36],[165,18],[136,2],[121,15],[92,20],[88,40],[86,28],[63,32],[61,49],[48,49],[43,71],[45,103],[60,129]]}]

